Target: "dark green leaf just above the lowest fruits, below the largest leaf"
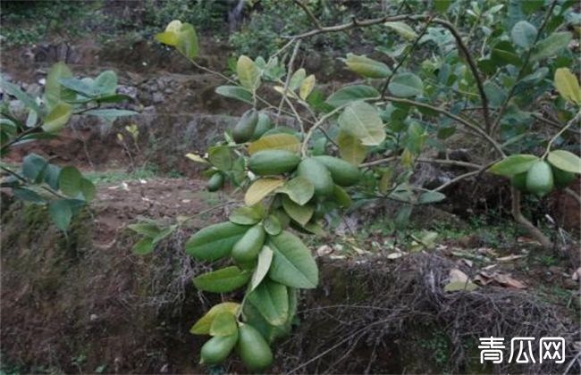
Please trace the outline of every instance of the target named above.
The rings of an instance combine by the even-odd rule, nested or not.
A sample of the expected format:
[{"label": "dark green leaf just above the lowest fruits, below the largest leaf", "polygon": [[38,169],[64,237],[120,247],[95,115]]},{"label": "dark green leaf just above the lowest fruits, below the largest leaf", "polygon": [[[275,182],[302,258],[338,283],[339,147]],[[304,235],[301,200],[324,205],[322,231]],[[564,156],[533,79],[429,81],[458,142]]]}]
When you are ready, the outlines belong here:
[{"label": "dark green leaf just above the lowest fruits, below the largest leaf", "polygon": [[280,326],[287,321],[289,294],[284,285],[265,279],[247,298],[269,324]]}]

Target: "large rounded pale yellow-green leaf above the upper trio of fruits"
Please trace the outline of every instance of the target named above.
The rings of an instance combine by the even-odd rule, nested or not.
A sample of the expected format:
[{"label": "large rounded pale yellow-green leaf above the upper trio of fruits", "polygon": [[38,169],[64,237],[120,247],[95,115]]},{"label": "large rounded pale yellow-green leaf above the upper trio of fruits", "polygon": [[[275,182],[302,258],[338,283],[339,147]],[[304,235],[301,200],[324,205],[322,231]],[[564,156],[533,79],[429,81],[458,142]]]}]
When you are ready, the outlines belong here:
[{"label": "large rounded pale yellow-green leaf above the upper trio of fruits", "polygon": [[377,109],[365,102],[349,104],[338,122],[341,131],[357,137],[364,146],[380,145],[386,137]]}]

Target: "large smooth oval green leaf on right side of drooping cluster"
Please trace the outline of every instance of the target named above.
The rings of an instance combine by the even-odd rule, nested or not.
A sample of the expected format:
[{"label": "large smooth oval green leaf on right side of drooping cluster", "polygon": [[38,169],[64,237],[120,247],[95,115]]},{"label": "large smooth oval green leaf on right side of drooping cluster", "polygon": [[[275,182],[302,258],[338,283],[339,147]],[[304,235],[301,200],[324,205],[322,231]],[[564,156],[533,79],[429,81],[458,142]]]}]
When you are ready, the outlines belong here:
[{"label": "large smooth oval green leaf on right side of drooping cluster", "polygon": [[282,231],[278,236],[269,237],[267,246],[273,252],[273,263],[268,276],[289,287],[316,287],[319,271],[315,259],[299,237]]}]

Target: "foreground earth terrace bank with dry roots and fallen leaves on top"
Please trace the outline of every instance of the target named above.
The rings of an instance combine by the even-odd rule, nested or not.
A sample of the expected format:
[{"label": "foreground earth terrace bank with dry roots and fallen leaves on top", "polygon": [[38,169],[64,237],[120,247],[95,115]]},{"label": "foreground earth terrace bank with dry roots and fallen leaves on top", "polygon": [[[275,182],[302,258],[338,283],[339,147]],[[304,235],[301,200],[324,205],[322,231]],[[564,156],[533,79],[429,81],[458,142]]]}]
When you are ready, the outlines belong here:
[{"label": "foreground earth terrace bank with dry roots and fallen leaves on top", "polygon": [[[205,295],[191,285],[191,277],[209,266],[189,259],[183,242],[208,222],[224,220],[231,207],[226,196],[205,193],[202,184],[102,184],[98,204],[80,214],[68,237],[38,207],[21,210],[20,203],[4,200],[3,371],[207,371],[197,364],[205,337],[190,335],[189,327],[211,304],[240,296]],[[153,255],[139,257],[131,254],[136,237],[124,228],[146,214],[164,223],[191,219]],[[425,218],[431,219],[422,226],[435,228],[442,213]],[[539,253],[526,237],[494,248],[486,240],[470,243],[472,229],[463,225],[456,234],[441,230],[431,249],[375,229],[353,242],[334,235],[313,242],[321,285],[303,294],[301,323],[277,346],[272,371],[538,373],[562,372],[571,364],[568,371],[578,372],[572,357],[560,367],[480,367],[476,346],[482,336],[562,336],[569,356],[576,353],[578,284],[567,258]],[[379,240],[385,242],[366,245]],[[551,256],[545,262],[552,265],[542,256]],[[444,292],[452,270],[479,287]],[[243,368],[233,358],[224,370]]]}]

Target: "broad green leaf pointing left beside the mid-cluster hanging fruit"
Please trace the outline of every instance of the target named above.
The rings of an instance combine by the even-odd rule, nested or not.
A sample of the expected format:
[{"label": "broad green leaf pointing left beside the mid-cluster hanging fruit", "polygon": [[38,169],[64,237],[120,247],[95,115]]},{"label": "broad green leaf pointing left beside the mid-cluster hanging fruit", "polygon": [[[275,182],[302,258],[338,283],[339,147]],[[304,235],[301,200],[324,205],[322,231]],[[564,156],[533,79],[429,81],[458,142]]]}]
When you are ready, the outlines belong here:
[{"label": "broad green leaf pointing left beside the mid-cluster hanging fruit", "polygon": [[247,226],[230,221],[210,225],[189,237],[186,253],[202,261],[216,261],[230,254],[232,246],[247,230]]}]

